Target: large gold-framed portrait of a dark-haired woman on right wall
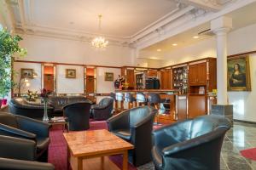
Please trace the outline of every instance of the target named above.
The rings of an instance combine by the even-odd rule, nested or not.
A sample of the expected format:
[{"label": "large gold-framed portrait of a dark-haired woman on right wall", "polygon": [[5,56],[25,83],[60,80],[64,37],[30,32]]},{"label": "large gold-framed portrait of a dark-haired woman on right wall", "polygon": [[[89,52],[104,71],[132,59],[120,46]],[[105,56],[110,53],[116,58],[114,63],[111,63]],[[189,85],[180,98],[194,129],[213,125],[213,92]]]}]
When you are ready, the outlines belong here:
[{"label": "large gold-framed portrait of a dark-haired woman on right wall", "polygon": [[228,59],[228,91],[251,91],[248,55]]}]

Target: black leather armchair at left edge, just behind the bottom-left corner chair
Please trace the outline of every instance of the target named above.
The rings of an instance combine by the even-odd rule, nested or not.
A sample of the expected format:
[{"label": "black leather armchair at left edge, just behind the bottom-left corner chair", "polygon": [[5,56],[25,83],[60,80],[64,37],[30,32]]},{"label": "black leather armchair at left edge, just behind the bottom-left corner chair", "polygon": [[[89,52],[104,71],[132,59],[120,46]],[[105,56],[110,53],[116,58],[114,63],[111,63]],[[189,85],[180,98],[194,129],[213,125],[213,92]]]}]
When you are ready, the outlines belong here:
[{"label": "black leather armchair at left edge, just behind the bottom-left corner chair", "polygon": [[[0,135],[9,136],[9,139],[1,139],[1,154],[7,155],[12,150],[16,152],[17,157],[7,157],[14,159],[24,159],[28,161],[47,161],[49,148],[49,127],[48,123],[40,122],[25,116],[12,115],[9,113],[0,114]],[[15,140],[12,141],[12,137]],[[13,146],[12,150],[3,145],[12,146],[12,142],[17,143],[17,147]],[[21,145],[20,145],[21,144]],[[22,150],[26,150],[26,154],[22,154]],[[17,151],[19,150],[19,151]]]}]

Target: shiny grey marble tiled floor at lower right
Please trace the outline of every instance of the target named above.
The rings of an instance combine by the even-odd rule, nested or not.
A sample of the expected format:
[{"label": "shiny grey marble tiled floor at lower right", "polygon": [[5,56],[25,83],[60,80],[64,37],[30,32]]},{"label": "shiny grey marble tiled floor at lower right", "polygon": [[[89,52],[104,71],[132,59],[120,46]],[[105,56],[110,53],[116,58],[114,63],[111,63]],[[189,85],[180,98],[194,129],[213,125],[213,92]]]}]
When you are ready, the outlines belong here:
[{"label": "shiny grey marble tiled floor at lower right", "polygon": [[[256,125],[234,122],[226,133],[221,151],[221,170],[256,170],[256,161],[241,156],[239,150],[256,147]],[[153,170],[150,162],[138,170]]]}]

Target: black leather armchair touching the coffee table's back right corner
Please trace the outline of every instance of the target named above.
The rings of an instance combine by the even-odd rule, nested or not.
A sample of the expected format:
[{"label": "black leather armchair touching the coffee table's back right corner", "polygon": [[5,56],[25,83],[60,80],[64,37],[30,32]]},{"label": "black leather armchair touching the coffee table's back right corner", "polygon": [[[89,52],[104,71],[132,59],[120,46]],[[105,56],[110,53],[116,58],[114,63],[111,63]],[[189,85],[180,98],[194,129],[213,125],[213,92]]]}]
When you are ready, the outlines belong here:
[{"label": "black leather armchair touching the coffee table's back right corner", "polygon": [[129,161],[136,167],[152,160],[151,133],[156,110],[143,106],[123,111],[108,119],[110,132],[134,145],[129,150]]}]

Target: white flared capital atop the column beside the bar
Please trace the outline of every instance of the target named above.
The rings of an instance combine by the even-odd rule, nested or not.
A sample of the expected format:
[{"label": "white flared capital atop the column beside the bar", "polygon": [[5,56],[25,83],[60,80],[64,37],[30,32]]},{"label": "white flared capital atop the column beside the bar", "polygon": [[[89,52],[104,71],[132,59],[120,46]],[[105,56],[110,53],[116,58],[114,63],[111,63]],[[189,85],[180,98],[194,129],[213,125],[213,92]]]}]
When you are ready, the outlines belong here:
[{"label": "white flared capital atop the column beside the bar", "polygon": [[221,16],[211,21],[211,31],[217,35],[225,35],[232,29],[232,19]]}]

